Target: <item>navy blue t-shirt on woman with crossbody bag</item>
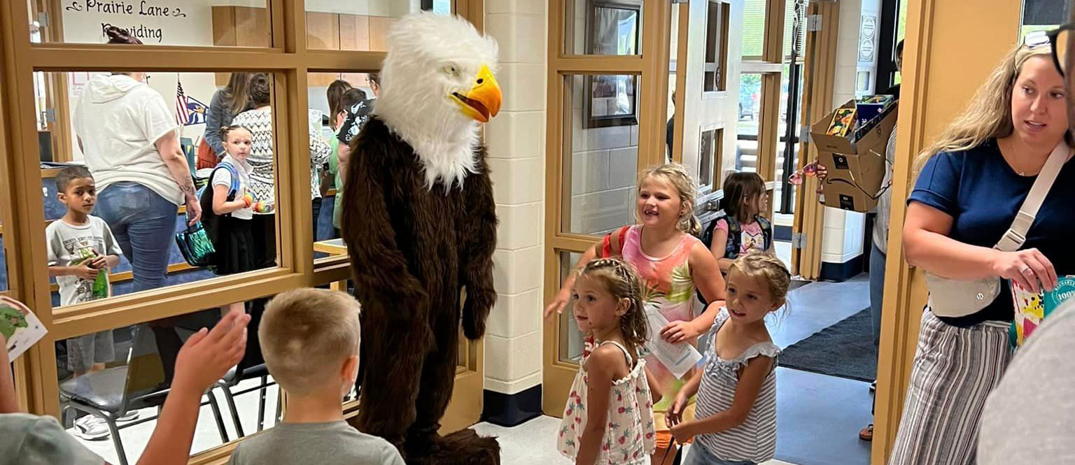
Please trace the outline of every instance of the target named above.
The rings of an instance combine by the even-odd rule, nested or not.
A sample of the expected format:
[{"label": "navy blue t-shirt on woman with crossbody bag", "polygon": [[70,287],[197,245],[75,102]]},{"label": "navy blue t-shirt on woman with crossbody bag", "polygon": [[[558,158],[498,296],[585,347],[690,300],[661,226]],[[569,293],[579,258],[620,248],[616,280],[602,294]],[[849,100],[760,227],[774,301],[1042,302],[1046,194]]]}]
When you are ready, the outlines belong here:
[{"label": "navy blue t-shirt on woman with crossbody bag", "polygon": [[[952,217],[949,237],[992,248],[1000,241],[1036,176],[1020,176],[1001,155],[995,140],[960,152],[941,152],[922,168],[907,202],[932,206]],[[1037,248],[1058,276],[1075,274],[1075,163],[1060,170],[1027,232],[1023,249]],[[948,324],[971,326],[986,320],[1012,321],[1015,307],[1006,279],[988,307],[959,318],[941,317]]]}]

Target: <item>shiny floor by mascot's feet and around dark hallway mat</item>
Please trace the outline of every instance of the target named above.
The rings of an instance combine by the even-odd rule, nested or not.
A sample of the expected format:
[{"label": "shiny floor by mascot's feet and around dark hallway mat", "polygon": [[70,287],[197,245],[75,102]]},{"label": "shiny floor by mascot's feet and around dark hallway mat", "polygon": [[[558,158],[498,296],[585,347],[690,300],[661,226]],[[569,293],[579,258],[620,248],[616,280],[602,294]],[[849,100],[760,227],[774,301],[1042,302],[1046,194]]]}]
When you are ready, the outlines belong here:
[{"label": "shiny floor by mascot's feet and around dark hallway mat", "polygon": [[[869,279],[811,282],[790,293],[791,308],[770,324],[786,349],[870,305]],[[865,465],[870,442],[858,438],[870,424],[870,383],[785,367],[776,368],[776,459],[765,465]],[[514,427],[478,423],[482,435],[500,438],[501,463],[570,464],[556,449],[560,419],[541,416]]]}]

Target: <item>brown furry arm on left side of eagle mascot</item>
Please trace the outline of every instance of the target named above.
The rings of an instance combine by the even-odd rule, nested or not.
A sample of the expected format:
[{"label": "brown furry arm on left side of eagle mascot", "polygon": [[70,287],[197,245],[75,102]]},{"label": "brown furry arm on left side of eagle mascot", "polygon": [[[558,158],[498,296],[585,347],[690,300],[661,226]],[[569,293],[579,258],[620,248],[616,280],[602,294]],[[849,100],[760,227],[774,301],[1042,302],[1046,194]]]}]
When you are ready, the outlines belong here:
[{"label": "brown furry arm on left side of eagle mascot", "polygon": [[347,189],[341,224],[350,255],[355,296],[367,311],[391,309],[389,315],[410,320],[419,315],[417,311],[428,303],[428,295],[411,274],[396,243],[384,195],[387,187],[383,184],[390,176],[371,163],[376,155],[355,151],[344,181]]}]

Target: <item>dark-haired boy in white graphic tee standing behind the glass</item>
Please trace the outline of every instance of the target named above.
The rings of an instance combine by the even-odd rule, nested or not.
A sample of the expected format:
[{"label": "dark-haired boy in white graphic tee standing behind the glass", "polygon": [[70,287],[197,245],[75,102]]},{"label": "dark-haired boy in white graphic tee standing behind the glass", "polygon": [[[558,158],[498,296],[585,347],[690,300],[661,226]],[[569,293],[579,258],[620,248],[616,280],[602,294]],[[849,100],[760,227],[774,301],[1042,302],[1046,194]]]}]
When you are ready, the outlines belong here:
[{"label": "dark-haired boy in white graphic tee standing behind the glass", "polygon": [[[60,305],[74,305],[112,294],[108,271],[119,263],[123,251],[104,220],[91,216],[97,204],[94,176],[85,166],[68,166],[56,176],[56,197],[67,214],[45,228],[48,275],[60,288]],[[67,340],[68,365],[74,376],[104,369],[115,359],[112,331]],[[129,420],[125,418],[124,420]],[[109,436],[104,422],[92,416],[75,421],[84,439]]]}]

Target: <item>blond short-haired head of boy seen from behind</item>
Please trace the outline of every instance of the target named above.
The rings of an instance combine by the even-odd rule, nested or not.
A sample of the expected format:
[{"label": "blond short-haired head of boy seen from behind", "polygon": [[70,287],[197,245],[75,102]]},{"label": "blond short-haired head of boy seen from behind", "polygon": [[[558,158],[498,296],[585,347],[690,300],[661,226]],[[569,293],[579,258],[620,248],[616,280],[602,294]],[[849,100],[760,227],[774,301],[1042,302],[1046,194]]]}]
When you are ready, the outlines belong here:
[{"label": "blond short-haired head of boy seen from behind", "polygon": [[[269,373],[289,394],[305,396],[358,372],[358,301],[340,291],[296,289],[276,295],[258,329]],[[348,379],[349,378],[349,379]]]}]

